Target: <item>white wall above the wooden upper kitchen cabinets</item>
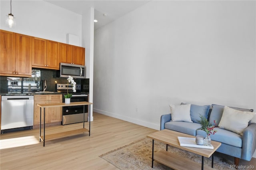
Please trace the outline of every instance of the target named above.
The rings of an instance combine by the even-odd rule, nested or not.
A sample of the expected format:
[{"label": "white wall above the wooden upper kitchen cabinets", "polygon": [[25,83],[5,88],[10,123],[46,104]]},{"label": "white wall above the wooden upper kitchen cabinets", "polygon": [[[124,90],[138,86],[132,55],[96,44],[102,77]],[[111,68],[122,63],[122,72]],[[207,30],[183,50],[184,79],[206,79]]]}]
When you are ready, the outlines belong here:
[{"label": "white wall above the wooden upper kitchen cabinets", "polygon": [[80,38],[82,45],[82,16],[42,0],[12,1],[12,14],[16,17],[16,27],[5,25],[10,14],[10,1],[0,1],[0,29],[29,36],[66,43],[66,34]]}]

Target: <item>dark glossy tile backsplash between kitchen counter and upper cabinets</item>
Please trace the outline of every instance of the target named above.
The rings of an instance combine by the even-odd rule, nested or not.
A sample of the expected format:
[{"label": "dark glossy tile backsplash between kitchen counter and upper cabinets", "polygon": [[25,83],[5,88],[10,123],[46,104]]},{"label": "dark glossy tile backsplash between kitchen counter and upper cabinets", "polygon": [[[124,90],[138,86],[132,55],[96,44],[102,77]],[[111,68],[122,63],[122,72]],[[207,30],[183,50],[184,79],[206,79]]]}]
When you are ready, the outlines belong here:
[{"label": "dark glossy tile backsplash between kitchen counter and upper cabinets", "polygon": [[[32,77],[0,76],[0,93],[43,91],[44,80],[47,85],[46,91],[56,91],[57,83],[68,83],[66,78],[56,78],[56,70],[32,69]],[[74,80],[76,84],[81,84],[82,91],[89,92],[89,79]]]}]

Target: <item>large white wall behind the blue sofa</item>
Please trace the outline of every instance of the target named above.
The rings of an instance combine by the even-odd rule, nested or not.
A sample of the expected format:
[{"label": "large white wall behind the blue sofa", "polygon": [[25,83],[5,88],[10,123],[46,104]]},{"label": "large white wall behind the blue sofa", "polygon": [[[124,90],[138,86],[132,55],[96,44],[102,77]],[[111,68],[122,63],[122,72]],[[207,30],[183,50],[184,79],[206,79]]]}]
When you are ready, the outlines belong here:
[{"label": "large white wall behind the blue sofa", "polygon": [[151,1],[96,30],[94,111],[155,129],[170,103],[256,111],[255,6]]}]

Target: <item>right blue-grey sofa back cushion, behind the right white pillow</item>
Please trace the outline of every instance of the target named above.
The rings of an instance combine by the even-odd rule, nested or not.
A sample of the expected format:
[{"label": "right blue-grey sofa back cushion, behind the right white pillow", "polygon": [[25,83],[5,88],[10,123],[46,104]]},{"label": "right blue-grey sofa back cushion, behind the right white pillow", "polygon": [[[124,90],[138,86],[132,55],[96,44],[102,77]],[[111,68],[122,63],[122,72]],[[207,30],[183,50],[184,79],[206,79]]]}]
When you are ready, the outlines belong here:
[{"label": "right blue-grey sofa back cushion, behind the right white pillow", "polygon": [[[237,107],[230,107],[230,108],[236,109],[238,111],[253,112],[253,109],[242,109],[242,108],[237,108]],[[223,110],[224,110],[224,106],[212,104],[212,112],[211,112],[210,118],[209,118],[209,122],[212,125],[214,125],[214,120],[217,121],[216,122],[217,126],[219,125]]]}]

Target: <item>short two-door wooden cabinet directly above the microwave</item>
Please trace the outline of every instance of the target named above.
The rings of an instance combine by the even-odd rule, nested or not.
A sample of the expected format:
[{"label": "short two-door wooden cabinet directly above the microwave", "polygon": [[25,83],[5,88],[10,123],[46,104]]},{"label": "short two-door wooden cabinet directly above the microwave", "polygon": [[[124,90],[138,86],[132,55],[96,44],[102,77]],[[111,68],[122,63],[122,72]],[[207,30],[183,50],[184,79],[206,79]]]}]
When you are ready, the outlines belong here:
[{"label": "short two-door wooden cabinet directly above the microwave", "polygon": [[85,48],[60,43],[60,63],[85,65]]}]

